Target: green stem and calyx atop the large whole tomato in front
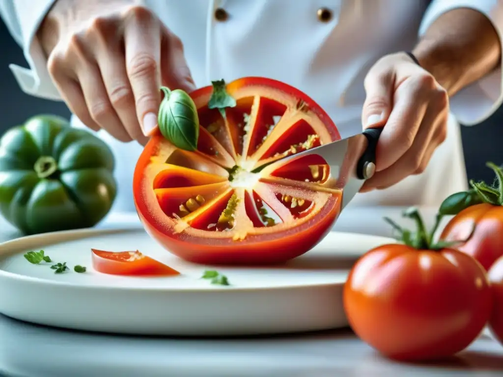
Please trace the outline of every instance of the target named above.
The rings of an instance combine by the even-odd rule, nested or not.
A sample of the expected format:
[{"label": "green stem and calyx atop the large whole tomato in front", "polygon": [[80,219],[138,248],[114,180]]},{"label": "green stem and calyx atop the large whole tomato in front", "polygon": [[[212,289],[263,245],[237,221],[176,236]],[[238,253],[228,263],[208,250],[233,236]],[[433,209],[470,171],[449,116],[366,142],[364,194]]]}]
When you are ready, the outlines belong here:
[{"label": "green stem and calyx atop the large whole tomato in front", "polygon": [[[459,243],[466,242],[466,240],[459,241],[444,241],[444,240],[435,240],[435,233],[442,221],[443,215],[438,214],[435,219],[435,224],[433,228],[428,231],[425,226],[425,222],[417,208],[411,207],[403,212],[403,217],[408,218],[414,221],[415,223],[415,232],[412,232],[409,229],[403,228],[395,223],[388,217],[384,218],[388,224],[390,224],[393,229],[398,233],[397,240],[403,242],[405,245],[413,247],[417,250],[441,250],[446,247],[450,247]],[[471,232],[473,233],[473,231]]]}]

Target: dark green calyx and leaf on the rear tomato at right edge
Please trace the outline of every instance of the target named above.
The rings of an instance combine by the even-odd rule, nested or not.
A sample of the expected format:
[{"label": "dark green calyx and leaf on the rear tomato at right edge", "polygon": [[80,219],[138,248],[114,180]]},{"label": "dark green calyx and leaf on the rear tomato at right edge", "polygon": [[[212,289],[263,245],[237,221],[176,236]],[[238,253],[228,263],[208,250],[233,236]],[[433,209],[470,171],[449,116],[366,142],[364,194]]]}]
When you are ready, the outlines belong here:
[{"label": "dark green calyx and leaf on the rear tomato at right edge", "polygon": [[503,167],[492,162],[487,162],[485,165],[494,171],[495,178],[492,185],[470,180],[471,189],[447,197],[440,205],[439,214],[457,215],[464,209],[481,203],[503,206]]}]

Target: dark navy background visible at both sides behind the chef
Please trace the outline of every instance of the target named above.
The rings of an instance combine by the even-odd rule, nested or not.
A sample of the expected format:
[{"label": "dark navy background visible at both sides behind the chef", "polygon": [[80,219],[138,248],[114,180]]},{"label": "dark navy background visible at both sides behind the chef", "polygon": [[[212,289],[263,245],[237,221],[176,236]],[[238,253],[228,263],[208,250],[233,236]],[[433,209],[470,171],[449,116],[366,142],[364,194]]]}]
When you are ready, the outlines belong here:
[{"label": "dark navy background visible at both sides behind the chef", "polygon": [[[36,114],[52,113],[69,118],[70,112],[64,103],[25,95],[9,69],[11,63],[28,66],[21,48],[0,20],[0,136]],[[484,164],[486,161],[503,163],[503,108],[482,124],[462,127],[461,131],[468,178],[491,182],[494,175]]]}]

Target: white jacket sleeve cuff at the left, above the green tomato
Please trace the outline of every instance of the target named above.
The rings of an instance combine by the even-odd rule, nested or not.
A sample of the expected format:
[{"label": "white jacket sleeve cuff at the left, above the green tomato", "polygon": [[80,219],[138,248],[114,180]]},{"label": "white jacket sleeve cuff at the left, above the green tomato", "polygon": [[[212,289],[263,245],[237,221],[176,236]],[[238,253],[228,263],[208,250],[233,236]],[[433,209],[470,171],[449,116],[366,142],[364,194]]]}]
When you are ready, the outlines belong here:
[{"label": "white jacket sleeve cuff at the left, above the green tomato", "polygon": [[47,57],[37,40],[37,30],[55,0],[0,0],[0,16],[21,46],[30,68],[10,64],[21,89],[35,97],[60,100],[47,71]]}]

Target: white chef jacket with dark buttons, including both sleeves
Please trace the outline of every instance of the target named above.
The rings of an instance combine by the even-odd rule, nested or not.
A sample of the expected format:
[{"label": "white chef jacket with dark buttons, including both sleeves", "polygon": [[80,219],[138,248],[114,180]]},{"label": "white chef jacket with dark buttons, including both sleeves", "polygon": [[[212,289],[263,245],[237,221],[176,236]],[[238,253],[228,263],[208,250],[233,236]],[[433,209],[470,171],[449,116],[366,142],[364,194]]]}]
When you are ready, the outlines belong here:
[{"label": "white chef jacket with dark buttons, including both sleeves", "polygon": [[[0,0],[9,30],[29,69],[10,68],[29,95],[60,100],[34,37],[54,0]],[[428,27],[455,8],[475,9],[499,36],[503,4],[497,0],[147,0],[143,2],[183,41],[197,86],[224,78],[265,76],[307,93],[333,119],[341,135],[361,123],[363,80],[381,56],[411,50]],[[215,17],[220,8],[225,20]],[[318,10],[331,12],[329,20]],[[501,40],[501,38],[500,38]],[[358,194],[350,206],[438,206],[467,185],[459,123],[473,125],[501,104],[501,67],[451,98],[447,140],[426,171],[382,191]],[[84,127],[73,117],[75,127]],[[142,148],[98,132],[113,149],[119,181],[114,210],[134,211],[132,175]]]}]

